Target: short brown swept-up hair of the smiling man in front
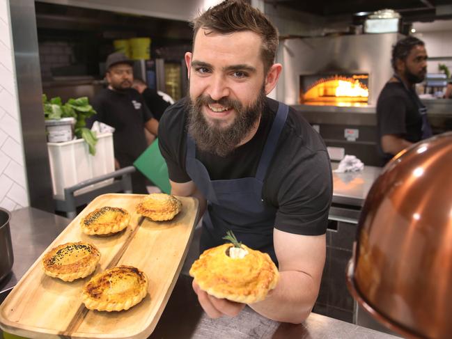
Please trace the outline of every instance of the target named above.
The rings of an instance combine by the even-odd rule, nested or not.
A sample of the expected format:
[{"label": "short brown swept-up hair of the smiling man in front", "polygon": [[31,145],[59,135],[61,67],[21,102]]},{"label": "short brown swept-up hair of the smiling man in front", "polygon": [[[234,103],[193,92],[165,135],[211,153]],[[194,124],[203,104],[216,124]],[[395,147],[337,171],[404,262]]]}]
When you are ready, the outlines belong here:
[{"label": "short brown swept-up hair of the smiling man in front", "polygon": [[242,0],[225,0],[217,6],[210,7],[192,21],[193,46],[196,33],[203,28],[211,32],[228,34],[252,31],[262,39],[261,58],[265,73],[274,63],[278,48],[279,34],[275,26],[260,10]]}]

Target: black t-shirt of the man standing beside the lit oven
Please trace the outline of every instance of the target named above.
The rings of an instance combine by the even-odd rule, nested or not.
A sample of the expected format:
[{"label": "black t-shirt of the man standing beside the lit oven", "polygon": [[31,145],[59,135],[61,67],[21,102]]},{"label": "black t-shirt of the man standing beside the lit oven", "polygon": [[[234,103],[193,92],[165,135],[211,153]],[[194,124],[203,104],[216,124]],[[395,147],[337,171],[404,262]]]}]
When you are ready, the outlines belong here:
[{"label": "black t-shirt of the man standing beside the lit oven", "polygon": [[393,155],[385,154],[381,138],[395,134],[416,143],[422,139],[422,117],[419,107],[400,82],[388,82],[377,100],[378,148],[384,161]]}]

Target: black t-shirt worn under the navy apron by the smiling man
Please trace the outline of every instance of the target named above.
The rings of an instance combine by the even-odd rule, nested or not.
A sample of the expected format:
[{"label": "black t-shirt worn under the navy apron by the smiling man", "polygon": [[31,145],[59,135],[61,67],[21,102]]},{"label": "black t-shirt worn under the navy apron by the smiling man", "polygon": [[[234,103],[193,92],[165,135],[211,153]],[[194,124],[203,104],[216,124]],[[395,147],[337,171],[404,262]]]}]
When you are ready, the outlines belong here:
[{"label": "black t-shirt worn under the navy apron by the smiling man", "polygon": [[[196,150],[196,159],[208,169],[211,180],[254,177],[278,102],[266,100],[255,136],[227,157]],[[191,179],[185,171],[187,112],[182,99],[169,107],[159,123],[159,147],[174,182]],[[263,183],[262,198],[276,207],[275,228],[300,235],[326,232],[332,199],[332,171],[320,135],[300,112],[289,109],[274,156]]]}]

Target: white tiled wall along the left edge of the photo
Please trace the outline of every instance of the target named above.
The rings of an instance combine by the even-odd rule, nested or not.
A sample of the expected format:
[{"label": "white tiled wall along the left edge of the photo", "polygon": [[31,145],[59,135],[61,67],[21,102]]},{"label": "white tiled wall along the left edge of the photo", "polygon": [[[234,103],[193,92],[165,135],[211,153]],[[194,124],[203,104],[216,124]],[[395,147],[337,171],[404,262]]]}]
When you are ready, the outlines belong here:
[{"label": "white tiled wall along the left edge of the photo", "polygon": [[11,39],[9,1],[0,0],[0,207],[29,205]]}]

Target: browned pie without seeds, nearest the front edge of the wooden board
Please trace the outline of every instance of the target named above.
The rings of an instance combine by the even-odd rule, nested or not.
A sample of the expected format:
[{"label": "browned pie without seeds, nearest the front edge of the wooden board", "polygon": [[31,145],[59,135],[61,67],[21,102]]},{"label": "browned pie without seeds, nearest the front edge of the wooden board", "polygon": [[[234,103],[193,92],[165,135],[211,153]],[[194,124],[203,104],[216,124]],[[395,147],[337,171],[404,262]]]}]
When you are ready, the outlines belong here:
[{"label": "browned pie without seeds, nearest the front edge of the wooden board", "polygon": [[82,300],[90,310],[128,310],[148,293],[148,277],[132,266],[116,266],[96,274],[83,287]]}]

